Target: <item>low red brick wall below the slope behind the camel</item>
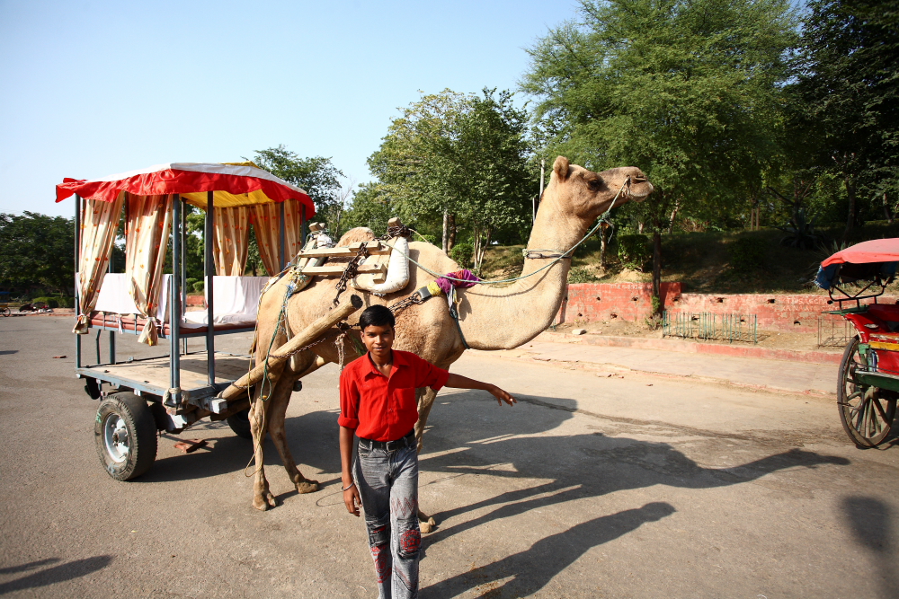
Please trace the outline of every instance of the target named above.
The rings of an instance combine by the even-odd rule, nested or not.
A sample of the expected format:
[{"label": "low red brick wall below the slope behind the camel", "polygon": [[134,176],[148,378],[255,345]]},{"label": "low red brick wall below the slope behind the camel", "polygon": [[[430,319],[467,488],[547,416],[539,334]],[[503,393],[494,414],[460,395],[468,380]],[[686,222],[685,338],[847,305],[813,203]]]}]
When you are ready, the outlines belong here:
[{"label": "low red brick wall below the slope behind the camel", "polygon": [[[652,289],[650,283],[569,285],[557,322],[640,321],[652,313]],[[827,304],[827,295],[682,294],[680,283],[663,283],[662,295],[665,309],[672,312],[755,314],[760,330],[782,332],[815,332],[818,315],[836,308]],[[878,301],[899,304],[899,296],[884,295]]]}]

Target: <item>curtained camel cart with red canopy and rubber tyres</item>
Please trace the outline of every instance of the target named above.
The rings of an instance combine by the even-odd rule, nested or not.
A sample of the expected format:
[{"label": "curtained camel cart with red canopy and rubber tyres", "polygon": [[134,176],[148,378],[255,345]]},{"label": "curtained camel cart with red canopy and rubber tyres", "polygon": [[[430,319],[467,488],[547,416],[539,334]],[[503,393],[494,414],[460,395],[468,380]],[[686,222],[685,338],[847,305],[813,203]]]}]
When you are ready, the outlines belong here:
[{"label": "curtained camel cart with red canopy and rubber tyres", "polygon": [[[217,397],[247,374],[249,356],[217,351],[216,338],[254,330],[258,300],[270,280],[243,276],[251,225],[270,273],[287,268],[298,251],[330,242],[315,224],[308,227],[307,245],[302,242],[307,219],[316,211],[307,193],[252,163],[172,163],[97,181],[67,179],[57,186],[57,201],[71,196],[76,199],[75,370],[85,380],[85,392],[100,400],[94,436],[105,470],[117,480],[139,476],[156,459],[157,430],[177,434],[200,418],[227,419],[237,435],[249,438],[246,393],[233,400]],[[205,310],[200,312],[184,309],[185,204],[205,211]],[[122,218],[126,266],[114,273],[110,256]],[[332,318],[339,312],[335,309]],[[317,332],[304,333],[316,339],[333,324],[319,322]],[[85,351],[85,335],[92,331],[95,356]],[[150,347],[167,346],[167,352],[120,359],[116,338],[121,335],[137,336]],[[205,349],[188,352],[191,338],[205,339]]]}]

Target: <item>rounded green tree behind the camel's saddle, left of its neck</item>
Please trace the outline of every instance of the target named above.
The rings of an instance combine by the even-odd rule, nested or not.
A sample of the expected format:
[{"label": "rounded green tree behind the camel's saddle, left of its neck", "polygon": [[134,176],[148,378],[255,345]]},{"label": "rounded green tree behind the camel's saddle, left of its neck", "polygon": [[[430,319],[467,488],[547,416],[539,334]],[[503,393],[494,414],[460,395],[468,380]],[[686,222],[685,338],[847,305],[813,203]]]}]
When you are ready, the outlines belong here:
[{"label": "rounded green tree behind the camel's saddle, left of its neck", "polygon": [[527,121],[510,92],[424,95],[393,120],[369,157],[378,193],[405,220],[440,224],[444,251],[464,223],[477,268],[495,233],[528,221],[534,181]]}]

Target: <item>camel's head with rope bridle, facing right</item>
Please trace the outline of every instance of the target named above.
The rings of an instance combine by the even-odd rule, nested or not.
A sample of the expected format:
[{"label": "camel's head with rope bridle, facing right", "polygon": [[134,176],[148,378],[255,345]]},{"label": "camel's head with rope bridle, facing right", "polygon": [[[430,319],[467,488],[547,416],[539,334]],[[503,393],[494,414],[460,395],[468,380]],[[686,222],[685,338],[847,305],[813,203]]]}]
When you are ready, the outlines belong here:
[{"label": "camel's head with rope bridle, facing right", "polygon": [[642,202],[653,192],[653,184],[636,166],[592,172],[569,163],[565,156],[559,156],[553,164],[550,186],[553,184],[558,201],[588,221],[608,210],[616,195],[615,207],[619,207],[631,201]]}]

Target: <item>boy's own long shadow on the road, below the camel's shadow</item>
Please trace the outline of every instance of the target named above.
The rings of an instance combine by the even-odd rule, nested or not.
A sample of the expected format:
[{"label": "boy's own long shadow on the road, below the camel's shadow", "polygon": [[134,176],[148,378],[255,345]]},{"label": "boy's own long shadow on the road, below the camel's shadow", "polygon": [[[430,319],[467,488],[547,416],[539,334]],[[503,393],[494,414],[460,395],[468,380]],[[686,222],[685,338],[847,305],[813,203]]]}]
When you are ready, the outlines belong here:
[{"label": "boy's own long shadow on the road, below the camel's shadow", "polygon": [[489,596],[528,596],[546,586],[586,551],[630,533],[643,524],[661,520],[675,511],[670,504],[654,502],[618,514],[593,518],[563,533],[544,537],[528,550],[441,580],[423,591],[432,597],[455,597],[476,586],[512,577],[503,586],[492,587]]}]

